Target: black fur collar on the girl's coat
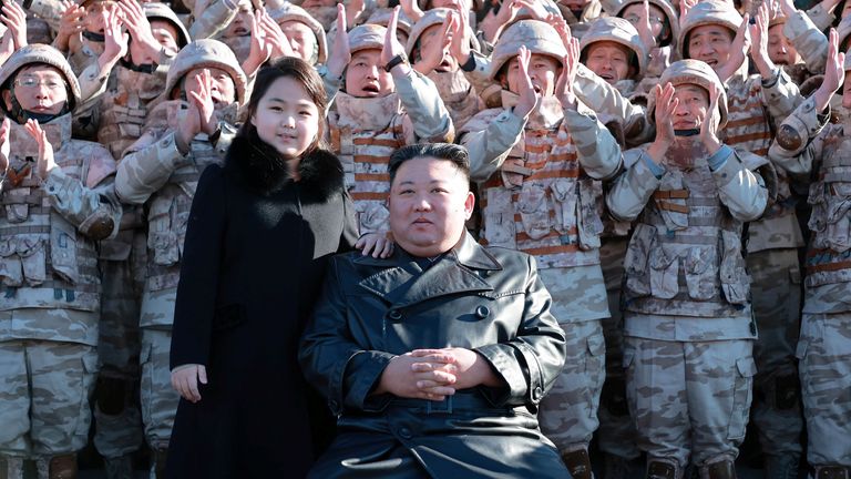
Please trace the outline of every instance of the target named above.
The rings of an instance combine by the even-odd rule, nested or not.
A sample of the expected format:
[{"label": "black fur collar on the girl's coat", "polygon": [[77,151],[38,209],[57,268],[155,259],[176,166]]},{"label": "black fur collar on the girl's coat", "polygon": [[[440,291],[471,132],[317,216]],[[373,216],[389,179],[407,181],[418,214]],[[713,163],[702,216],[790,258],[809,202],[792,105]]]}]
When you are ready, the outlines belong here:
[{"label": "black fur collar on the girl's coat", "polygon": [[[225,171],[262,196],[269,196],[293,181],[284,159],[255,131],[248,137],[234,137],[225,159]],[[317,149],[301,157],[298,172],[303,202],[324,202],[345,191],[342,165],[329,151]]]}]

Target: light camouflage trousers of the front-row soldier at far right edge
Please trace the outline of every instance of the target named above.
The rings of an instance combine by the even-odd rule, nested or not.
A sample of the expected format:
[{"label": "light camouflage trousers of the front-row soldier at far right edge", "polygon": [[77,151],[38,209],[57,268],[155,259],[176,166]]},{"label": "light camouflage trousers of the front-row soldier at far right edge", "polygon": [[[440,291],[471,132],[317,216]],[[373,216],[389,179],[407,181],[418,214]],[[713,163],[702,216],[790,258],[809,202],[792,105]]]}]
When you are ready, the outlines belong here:
[{"label": "light camouflage trousers of the front-row soldier at far right edge", "polygon": [[[845,300],[848,283],[842,283]],[[809,299],[809,297],[808,297]],[[848,307],[845,305],[845,307]],[[803,314],[798,342],[807,460],[851,468],[851,314]]]}]

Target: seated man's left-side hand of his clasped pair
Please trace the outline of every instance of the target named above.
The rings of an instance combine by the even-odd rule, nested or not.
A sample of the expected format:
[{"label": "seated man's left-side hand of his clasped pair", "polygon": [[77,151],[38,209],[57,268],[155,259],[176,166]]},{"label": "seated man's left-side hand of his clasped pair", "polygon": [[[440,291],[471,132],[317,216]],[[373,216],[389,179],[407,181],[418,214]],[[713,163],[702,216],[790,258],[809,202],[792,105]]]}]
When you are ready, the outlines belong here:
[{"label": "seated man's left-side hand of his clasped pair", "polygon": [[381,373],[378,387],[373,394],[391,394],[410,399],[443,400],[455,394],[452,385],[457,377],[455,358],[449,354],[437,353],[413,356],[407,353],[397,356]]}]

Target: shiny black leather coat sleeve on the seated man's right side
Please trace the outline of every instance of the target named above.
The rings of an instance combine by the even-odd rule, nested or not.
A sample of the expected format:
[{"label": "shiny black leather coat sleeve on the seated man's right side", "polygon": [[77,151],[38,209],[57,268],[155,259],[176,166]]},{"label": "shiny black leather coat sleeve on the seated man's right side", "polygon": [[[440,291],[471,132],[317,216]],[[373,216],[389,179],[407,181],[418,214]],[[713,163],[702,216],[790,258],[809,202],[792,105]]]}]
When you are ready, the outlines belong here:
[{"label": "shiny black leather coat sleeve on the seated man's right side", "polygon": [[498,407],[539,404],[558,377],[566,356],[564,332],[550,313],[552,297],[537,276],[534,257],[526,256],[526,261],[525,305],[516,336],[473,349],[507,385],[507,390],[484,389]]}]

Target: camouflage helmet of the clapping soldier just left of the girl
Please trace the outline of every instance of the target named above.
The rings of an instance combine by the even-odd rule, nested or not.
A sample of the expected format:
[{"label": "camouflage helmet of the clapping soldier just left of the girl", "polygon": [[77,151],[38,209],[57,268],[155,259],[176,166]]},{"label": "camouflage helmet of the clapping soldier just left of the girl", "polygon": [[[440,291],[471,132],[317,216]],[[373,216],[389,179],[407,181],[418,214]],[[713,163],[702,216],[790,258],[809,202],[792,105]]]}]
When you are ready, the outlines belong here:
[{"label": "camouflage helmet of the clapping soldier just left of the girl", "polygon": [[165,90],[162,100],[168,100],[172,91],[186,74],[195,69],[216,68],[226,71],[236,88],[236,101],[245,104],[247,80],[236,55],[226,44],[218,40],[195,40],[181,50],[174,58],[168,74],[165,78]]}]

